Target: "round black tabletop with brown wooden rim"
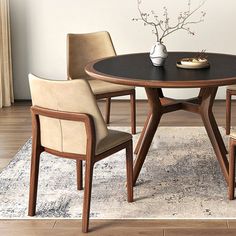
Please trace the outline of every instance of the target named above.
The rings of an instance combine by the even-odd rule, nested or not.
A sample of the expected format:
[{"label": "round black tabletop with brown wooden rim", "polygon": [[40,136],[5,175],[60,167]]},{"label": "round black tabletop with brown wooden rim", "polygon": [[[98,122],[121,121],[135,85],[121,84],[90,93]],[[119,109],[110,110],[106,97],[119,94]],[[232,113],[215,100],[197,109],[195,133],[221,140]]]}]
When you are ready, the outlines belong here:
[{"label": "round black tabletop with brown wooden rim", "polygon": [[117,84],[161,88],[214,87],[236,84],[236,56],[207,53],[210,68],[188,70],[176,61],[195,52],[169,52],[164,67],[154,67],[148,53],[128,54],[97,60],[86,66],[96,78]]}]

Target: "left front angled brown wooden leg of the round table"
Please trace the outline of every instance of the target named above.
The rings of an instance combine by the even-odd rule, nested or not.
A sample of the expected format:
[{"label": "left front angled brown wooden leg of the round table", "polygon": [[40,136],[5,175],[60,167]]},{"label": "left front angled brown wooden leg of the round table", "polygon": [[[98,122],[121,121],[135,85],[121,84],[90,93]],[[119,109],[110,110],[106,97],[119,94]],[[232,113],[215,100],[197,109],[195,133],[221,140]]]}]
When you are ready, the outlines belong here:
[{"label": "left front angled brown wooden leg of the round table", "polygon": [[147,125],[144,127],[143,136],[140,139],[140,148],[134,164],[134,185],[137,181],[162,116],[162,107],[160,102],[160,97],[162,96],[162,93],[160,92],[161,90],[156,88],[145,88],[145,90],[148,97],[148,104],[150,106],[150,113]]}]

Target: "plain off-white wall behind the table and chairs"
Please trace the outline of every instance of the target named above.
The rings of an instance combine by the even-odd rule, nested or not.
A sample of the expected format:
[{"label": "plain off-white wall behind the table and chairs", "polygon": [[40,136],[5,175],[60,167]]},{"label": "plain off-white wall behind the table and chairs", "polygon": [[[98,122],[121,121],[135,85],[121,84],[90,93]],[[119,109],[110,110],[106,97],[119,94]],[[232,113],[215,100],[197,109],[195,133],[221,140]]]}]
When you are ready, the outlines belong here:
[{"label": "plain off-white wall behind the table and chairs", "polygon": [[[199,0],[192,0],[194,5]],[[162,12],[166,5],[171,18],[184,9],[187,0],[143,0],[144,9]],[[16,99],[30,98],[27,74],[52,79],[66,78],[66,34],[107,30],[118,54],[149,51],[155,41],[151,30],[131,19],[138,16],[136,0],[10,0]],[[205,22],[194,26],[196,36],[185,32],[171,35],[169,51],[201,51],[236,54],[236,1],[208,0]],[[161,11],[160,11],[161,10]],[[236,66],[235,66],[236,69]],[[167,90],[184,98],[196,90]],[[145,98],[142,88],[138,98]],[[218,92],[225,98],[225,88]]]}]

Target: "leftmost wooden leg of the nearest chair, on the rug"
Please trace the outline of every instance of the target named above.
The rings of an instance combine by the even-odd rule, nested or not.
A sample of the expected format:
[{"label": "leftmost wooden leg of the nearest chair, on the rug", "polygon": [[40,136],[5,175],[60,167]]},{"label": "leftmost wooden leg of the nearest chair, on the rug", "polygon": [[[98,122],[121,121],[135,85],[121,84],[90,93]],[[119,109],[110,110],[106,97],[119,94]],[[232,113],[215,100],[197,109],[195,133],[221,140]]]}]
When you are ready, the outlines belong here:
[{"label": "leftmost wooden leg of the nearest chair, on the rug", "polygon": [[[33,138],[34,139],[34,138]],[[32,141],[34,143],[34,141]],[[38,190],[38,175],[41,148],[36,144],[32,145],[31,171],[30,171],[30,192],[28,215],[34,216],[36,212],[37,190]]]}]

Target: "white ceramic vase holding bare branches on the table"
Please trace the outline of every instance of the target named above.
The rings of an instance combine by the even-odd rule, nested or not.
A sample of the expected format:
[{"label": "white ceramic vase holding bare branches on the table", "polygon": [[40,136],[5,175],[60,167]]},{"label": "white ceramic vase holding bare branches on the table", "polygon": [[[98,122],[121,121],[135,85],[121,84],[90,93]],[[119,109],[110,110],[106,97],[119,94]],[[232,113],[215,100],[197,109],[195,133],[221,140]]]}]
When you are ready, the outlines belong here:
[{"label": "white ceramic vase holding bare branches on the table", "polygon": [[154,66],[164,66],[168,53],[164,44],[156,42],[150,51],[150,59]]}]

